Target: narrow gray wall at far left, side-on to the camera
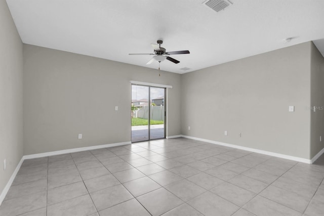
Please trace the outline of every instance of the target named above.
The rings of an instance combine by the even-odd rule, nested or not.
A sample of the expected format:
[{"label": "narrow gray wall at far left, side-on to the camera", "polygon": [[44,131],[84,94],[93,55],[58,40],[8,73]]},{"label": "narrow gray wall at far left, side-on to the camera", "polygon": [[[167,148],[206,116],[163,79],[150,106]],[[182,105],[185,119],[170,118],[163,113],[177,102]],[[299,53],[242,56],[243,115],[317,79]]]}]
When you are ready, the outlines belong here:
[{"label": "narrow gray wall at far left, side-on to the camera", "polygon": [[[5,0],[0,1],[0,193],[23,153],[22,42]],[[7,169],[3,163],[7,159]]]}]

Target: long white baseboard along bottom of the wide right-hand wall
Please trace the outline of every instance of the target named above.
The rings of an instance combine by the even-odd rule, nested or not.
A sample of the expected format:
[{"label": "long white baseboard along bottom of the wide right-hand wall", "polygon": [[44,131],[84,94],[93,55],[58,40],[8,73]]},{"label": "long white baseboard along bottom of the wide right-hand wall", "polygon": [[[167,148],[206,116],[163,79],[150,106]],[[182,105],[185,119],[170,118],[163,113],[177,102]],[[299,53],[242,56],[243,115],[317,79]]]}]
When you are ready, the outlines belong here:
[{"label": "long white baseboard along bottom of the wide right-hand wall", "polygon": [[[193,137],[193,136],[186,136],[186,135],[181,135],[181,136],[182,137],[185,137],[185,138],[189,138],[189,139],[194,139],[194,140],[199,140],[199,141],[213,143],[213,144],[220,145],[220,146],[226,146],[226,147],[231,147],[231,148],[234,148],[234,149],[240,149],[240,150],[245,150],[245,151],[260,153],[260,154],[263,154],[263,155],[269,155],[269,156],[273,156],[273,157],[284,158],[284,159],[298,161],[298,162],[302,162],[302,163],[308,163],[308,164],[311,164],[312,163],[312,160],[305,159],[305,158],[299,158],[299,157],[294,157],[294,156],[290,156],[290,155],[283,155],[283,154],[278,154],[278,153],[274,153],[274,152],[263,151],[263,150],[259,150],[259,149],[252,149],[252,148],[248,148],[248,147],[237,146],[237,145],[233,145],[233,144],[229,144],[229,143],[225,143],[225,142],[218,142],[218,141],[214,141],[214,140],[197,138],[197,137]],[[324,152],[324,150],[322,150],[322,151]]]}]

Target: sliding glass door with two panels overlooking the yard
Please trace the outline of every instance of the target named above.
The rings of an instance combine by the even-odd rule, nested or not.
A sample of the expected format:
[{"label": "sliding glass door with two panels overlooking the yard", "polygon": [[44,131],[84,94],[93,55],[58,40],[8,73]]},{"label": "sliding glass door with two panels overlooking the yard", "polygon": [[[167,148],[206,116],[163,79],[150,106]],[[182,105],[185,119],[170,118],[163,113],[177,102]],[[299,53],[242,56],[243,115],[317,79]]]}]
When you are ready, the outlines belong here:
[{"label": "sliding glass door with two panels overlooking the yard", "polygon": [[132,142],[165,138],[165,88],[132,85]]}]

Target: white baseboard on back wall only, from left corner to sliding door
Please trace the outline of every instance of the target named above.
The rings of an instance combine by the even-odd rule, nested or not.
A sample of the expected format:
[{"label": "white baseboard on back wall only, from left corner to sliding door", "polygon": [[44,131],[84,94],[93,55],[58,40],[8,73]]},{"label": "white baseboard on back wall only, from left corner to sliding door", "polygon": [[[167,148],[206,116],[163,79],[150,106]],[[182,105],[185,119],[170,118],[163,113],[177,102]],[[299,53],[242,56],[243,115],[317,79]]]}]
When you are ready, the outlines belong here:
[{"label": "white baseboard on back wall only, from left corner to sliding door", "polygon": [[74,152],[82,152],[82,151],[88,151],[88,150],[95,150],[95,149],[102,149],[102,148],[109,148],[109,147],[115,147],[115,146],[124,146],[131,144],[131,141],[127,142],[117,142],[117,143],[111,143],[111,144],[105,144],[105,145],[99,145],[99,146],[89,146],[89,147],[82,147],[82,148],[75,148],[75,149],[65,149],[60,151],[54,151],[54,152],[45,152],[45,153],[39,153],[39,154],[33,154],[33,155],[24,155],[23,159],[33,159],[33,158],[42,158],[42,157],[48,157],[53,155],[62,155],[67,153],[74,153]]}]

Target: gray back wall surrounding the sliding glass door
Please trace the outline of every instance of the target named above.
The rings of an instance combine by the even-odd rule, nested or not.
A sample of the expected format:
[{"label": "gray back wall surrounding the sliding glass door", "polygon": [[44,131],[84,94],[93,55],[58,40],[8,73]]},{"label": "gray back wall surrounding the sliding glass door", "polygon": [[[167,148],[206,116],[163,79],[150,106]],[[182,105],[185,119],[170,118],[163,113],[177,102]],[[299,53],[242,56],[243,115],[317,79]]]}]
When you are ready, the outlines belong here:
[{"label": "gray back wall surrounding the sliding glass door", "polygon": [[180,134],[179,74],[24,45],[24,155],[130,141],[131,80],[173,86],[167,136]]}]

